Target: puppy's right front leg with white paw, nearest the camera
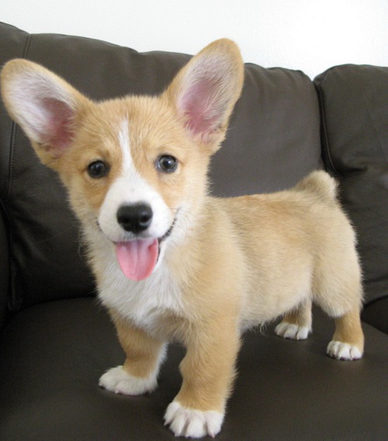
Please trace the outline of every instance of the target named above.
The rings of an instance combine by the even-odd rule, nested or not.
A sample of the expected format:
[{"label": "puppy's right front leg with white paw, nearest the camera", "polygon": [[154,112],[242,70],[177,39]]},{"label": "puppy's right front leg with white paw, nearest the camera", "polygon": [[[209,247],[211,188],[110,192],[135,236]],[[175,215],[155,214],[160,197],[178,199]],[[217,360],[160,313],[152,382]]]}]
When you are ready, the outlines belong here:
[{"label": "puppy's right front leg with white paw, nearest the camera", "polygon": [[176,436],[214,437],[219,433],[239,343],[238,327],[233,322],[207,322],[193,330],[180,366],[181,390],[164,416]]}]

